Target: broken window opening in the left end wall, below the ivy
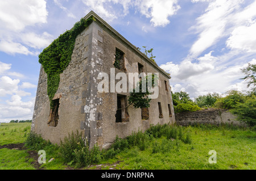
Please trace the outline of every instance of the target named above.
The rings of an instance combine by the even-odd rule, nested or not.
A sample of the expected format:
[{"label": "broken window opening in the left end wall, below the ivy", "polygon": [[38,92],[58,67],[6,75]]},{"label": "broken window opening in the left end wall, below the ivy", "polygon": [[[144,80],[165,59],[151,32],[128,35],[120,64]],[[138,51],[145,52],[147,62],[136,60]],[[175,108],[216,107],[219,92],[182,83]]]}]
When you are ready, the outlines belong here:
[{"label": "broken window opening in the left end wall, below the ivy", "polygon": [[50,127],[56,127],[59,121],[59,107],[60,107],[60,99],[53,100],[53,106],[49,113],[48,125]]}]

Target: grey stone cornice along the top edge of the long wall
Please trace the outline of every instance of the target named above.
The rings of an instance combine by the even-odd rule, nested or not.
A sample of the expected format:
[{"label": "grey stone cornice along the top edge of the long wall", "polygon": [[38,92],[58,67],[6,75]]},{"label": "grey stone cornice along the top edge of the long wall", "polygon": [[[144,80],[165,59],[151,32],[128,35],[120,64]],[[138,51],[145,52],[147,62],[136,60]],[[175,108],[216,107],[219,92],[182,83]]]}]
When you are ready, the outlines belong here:
[{"label": "grey stone cornice along the top edge of the long wall", "polygon": [[168,73],[166,73],[166,71],[164,71],[163,69],[159,68],[158,65],[156,65],[154,62],[152,62],[152,60],[150,60],[150,58],[148,58],[146,56],[146,54],[142,53],[140,50],[138,50],[137,47],[135,47],[133,44],[131,44],[128,40],[125,39],[125,37],[123,37],[120,33],[118,33],[117,31],[114,30],[114,28],[112,28],[108,23],[105,22],[105,20],[103,20],[100,16],[98,16],[95,12],[90,11],[85,17],[84,19],[88,19],[91,16],[94,16],[94,18],[96,19],[96,23],[100,24],[102,27],[106,28],[108,31],[110,31],[112,33],[112,35],[114,37],[116,37],[119,41],[122,41],[122,43],[126,44],[127,47],[129,47],[130,49],[133,50],[133,52],[139,54],[139,56],[143,57],[144,60],[146,60],[149,64],[151,64],[152,66],[154,66],[156,69],[158,69],[159,71],[161,71],[164,75],[166,75],[169,79],[171,78],[170,75]]}]

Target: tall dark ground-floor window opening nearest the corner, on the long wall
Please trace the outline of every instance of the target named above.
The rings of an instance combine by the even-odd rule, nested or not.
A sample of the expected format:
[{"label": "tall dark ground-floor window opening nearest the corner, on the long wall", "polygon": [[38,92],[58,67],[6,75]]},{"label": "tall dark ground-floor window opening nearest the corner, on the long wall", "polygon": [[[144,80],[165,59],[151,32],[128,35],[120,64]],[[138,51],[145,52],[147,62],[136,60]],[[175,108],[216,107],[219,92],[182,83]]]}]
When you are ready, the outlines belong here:
[{"label": "tall dark ground-floor window opening nearest the corner, on the long wall", "polygon": [[127,109],[127,96],[117,94],[117,112],[115,113],[115,122],[129,121],[129,114]]}]

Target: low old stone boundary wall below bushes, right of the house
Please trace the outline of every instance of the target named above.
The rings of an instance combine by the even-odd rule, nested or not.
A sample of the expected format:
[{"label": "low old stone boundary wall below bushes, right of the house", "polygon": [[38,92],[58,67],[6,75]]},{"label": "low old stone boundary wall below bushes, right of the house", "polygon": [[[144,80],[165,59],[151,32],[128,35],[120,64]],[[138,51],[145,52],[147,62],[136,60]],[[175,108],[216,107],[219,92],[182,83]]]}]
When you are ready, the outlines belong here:
[{"label": "low old stone boundary wall below bushes, right of the house", "polygon": [[196,112],[181,112],[175,114],[176,123],[179,125],[192,124],[233,124],[242,125],[240,121],[236,120],[237,116],[230,113],[228,110],[209,108]]}]

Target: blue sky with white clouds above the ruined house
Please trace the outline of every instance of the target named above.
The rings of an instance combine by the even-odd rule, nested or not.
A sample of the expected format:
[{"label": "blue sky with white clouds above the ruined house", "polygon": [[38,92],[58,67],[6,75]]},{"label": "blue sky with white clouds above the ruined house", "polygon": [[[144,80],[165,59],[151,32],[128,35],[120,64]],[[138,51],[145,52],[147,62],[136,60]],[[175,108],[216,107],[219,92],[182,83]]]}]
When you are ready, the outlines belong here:
[{"label": "blue sky with white clouds above the ruined house", "polygon": [[0,122],[32,119],[38,54],[91,10],[135,46],[154,48],[172,91],[248,90],[240,69],[256,64],[256,1],[0,0]]}]

